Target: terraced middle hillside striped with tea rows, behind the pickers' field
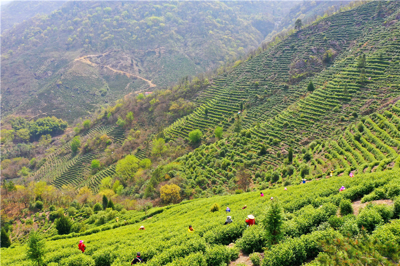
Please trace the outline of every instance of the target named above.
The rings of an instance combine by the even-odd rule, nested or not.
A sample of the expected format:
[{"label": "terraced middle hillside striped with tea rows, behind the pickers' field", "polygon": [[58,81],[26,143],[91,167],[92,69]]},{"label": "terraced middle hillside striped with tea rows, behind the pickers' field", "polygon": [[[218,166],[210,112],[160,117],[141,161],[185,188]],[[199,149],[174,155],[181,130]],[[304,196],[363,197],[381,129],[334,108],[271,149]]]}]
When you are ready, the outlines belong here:
[{"label": "terraced middle hillside striped with tea rows, behind the pickers' field", "polygon": [[[64,142],[34,176],[57,187],[97,190],[101,179],[114,176],[115,162],[130,153],[153,165],[123,181],[126,193],[157,198],[161,184],[176,182],[190,198],[234,191],[240,187],[238,173],[269,186],[330,170],[342,175],[391,168],[399,148],[398,16],[398,2],[367,3],[289,35],[208,87],[197,79],[126,97],[93,116],[87,127],[78,125],[83,132],[78,153]],[[307,91],[310,81],[316,88]],[[217,126],[226,139],[213,136]],[[199,148],[185,155],[194,129],[202,131],[204,145],[193,144]],[[293,165],[287,161],[289,147]],[[94,159],[103,165],[95,174]]]}]

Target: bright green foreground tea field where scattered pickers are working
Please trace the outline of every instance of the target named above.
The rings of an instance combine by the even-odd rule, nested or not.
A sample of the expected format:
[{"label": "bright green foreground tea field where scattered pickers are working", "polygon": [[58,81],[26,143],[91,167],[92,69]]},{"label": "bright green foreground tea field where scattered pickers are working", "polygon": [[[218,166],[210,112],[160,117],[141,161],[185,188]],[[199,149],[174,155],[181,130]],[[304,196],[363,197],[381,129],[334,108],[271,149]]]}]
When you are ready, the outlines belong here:
[{"label": "bright green foreground tea field where scattered pickers are working", "polygon": [[[207,199],[184,201],[177,205],[150,209],[145,215],[136,211],[119,213],[107,209],[106,224],[94,226],[99,215],[92,215],[83,223],[94,223],[90,230],[48,237],[45,239],[45,264],[56,266],[77,265],[129,265],[136,252],[141,252],[146,265],[227,265],[238,257],[239,250],[250,254],[262,252],[267,247],[263,224],[270,197],[278,201],[284,210],[283,239],[265,250],[261,264],[300,265],[321,252],[320,241],[335,238],[357,237],[361,227],[367,229],[377,243],[392,243],[399,248],[398,234],[400,193],[398,165],[395,169],[355,177],[333,177],[311,183],[239,195],[215,196]],[[339,188],[346,189],[339,192]],[[371,197],[373,195],[373,197]],[[339,216],[338,206],[346,200],[366,201],[394,199],[394,205],[368,205],[358,215]],[[210,212],[216,203],[219,211]],[[246,209],[242,207],[246,205]],[[394,206],[394,207],[393,207]],[[233,223],[223,225],[229,207]],[[377,213],[376,221],[370,217]],[[246,227],[248,214],[255,217],[256,225]],[[115,221],[115,217],[119,221]],[[75,219],[78,219],[76,216]],[[143,225],[145,230],[138,230]],[[192,225],[194,233],[188,233]],[[384,232],[384,234],[382,234]],[[77,249],[84,240],[84,254]],[[234,245],[229,245],[234,243]],[[375,244],[378,245],[378,244]],[[388,259],[390,261],[390,258]],[[389,261],[385,261],[389,263]],[[317,262],[311,262],[313,264]],[[28,266],[25,246],[13,245],[1,249],[1,264]],[[386,264],[388,265],[388,264]]]}]

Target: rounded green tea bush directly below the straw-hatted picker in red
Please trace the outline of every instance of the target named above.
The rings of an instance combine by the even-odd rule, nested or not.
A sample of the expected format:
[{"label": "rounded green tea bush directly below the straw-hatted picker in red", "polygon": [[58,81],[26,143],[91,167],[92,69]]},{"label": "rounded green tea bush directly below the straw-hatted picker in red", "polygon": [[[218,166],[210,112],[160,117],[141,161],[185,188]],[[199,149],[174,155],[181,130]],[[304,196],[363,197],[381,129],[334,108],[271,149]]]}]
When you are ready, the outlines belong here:
[{"label": "rounded green tea bush directly below the straw-hatted picker in red", "polygon": [[259,225],[253,225],[244,230],[243,236],[236,242],[237,247],[244,253],[261,252],[265,247],[264,229]]}]

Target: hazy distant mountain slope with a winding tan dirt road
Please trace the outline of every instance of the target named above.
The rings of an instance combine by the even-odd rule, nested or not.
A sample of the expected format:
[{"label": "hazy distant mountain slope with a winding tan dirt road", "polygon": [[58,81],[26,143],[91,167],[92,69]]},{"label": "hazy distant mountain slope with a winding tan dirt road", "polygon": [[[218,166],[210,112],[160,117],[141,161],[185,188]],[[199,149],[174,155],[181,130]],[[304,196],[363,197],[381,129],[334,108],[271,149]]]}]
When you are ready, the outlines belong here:
[{"label": "hazy distant mountain slope with a winding tan dirt road", "polygon": [[[243,56],[274,29],[330,4],[68,1],[2,32],[2,116],[71,123],[130,92]],[[288,13],[296,17],[280,23]]]}]

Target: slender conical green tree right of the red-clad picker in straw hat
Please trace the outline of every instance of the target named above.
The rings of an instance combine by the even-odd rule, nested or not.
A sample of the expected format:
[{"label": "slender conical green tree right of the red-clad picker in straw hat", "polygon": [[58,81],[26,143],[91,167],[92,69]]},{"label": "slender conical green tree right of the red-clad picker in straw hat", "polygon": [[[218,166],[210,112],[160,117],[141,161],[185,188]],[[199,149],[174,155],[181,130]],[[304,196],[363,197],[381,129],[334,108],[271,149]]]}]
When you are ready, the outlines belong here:
[{"label": "slender conical green tree right of the red-clad picker in straw hat", "polygon": [[269,241],[269,244],[277,244],[282,238],[281,227],[283,224],[283,212],[279,202],[275,200],[270,201],[262,224],[264,225],[265,237]]}]

